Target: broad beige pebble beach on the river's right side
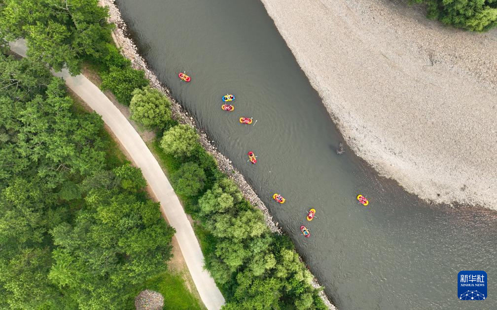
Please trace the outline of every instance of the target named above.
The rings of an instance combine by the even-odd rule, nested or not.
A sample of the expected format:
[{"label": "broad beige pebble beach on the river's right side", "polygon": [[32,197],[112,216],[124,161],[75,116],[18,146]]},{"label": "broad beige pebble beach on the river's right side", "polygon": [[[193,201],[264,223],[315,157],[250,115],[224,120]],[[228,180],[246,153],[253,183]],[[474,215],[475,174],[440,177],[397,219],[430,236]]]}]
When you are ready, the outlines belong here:
[{"label": "broad beige pebble beach on the river's right side", "polygon": [[262,0],[349,146],[437,203],[496,209],[497,30],[395,0]]}]

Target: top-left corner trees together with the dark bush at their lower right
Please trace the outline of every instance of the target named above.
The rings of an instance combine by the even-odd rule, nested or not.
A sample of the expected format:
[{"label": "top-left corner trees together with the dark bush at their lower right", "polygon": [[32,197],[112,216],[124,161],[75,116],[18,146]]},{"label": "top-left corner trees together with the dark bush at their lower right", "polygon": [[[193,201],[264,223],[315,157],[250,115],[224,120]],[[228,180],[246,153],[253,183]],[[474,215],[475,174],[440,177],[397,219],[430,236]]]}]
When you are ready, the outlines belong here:
[{"label": "top-left corner trees together with the dark bush at their lower right", "polygon": [[133,90],[149,81],[112,43],[107,17],[98,0],[0,0],[0,47],[23,38],[33,61],[71,74],[80,73],[84,61],[96,64],[101,88],[129,105]]}]

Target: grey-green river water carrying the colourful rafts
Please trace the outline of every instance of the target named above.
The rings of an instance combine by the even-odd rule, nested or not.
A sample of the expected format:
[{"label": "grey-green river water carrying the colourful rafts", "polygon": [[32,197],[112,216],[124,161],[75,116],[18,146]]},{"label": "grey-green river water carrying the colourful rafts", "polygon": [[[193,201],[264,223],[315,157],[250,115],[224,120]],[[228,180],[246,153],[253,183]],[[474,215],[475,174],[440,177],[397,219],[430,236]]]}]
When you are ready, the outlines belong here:
[{"label": "grey-green river water carrying the colourful rafts", "polygon": [[[467,309],[460,270],[487,272],[490,297],[478,307],[497,308],[497,213],[426,204],[351,151],[337,156],[343,138],[261,3],[116,2],[150,68],[244,174],[338,308]],[[183,70],[190,83],[178,79]],[[234,112],[221,110],[226,93]]]}]

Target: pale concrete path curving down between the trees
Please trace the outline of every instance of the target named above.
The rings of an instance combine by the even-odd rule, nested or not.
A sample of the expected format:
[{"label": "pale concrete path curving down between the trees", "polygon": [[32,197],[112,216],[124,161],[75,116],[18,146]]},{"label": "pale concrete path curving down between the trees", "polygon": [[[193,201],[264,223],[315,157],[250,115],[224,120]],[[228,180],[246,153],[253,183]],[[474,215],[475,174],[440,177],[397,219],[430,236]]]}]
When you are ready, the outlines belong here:
[{"label": "pale concrete path curving down between the trees", "polygon": [[[10,49],[26,57],[26,45],[23,40],[10,43]],[[52,71],[52,73],[55,76],[64,78],[66,85],[83,99],[91,109],[102,116],[105,124],[109,126],[110,130],[130,154],[134,163],[142,170],[144,178],[161,203],[161,209],[166,214],[167,221],[176,230],[175,236],[178,240],[179,248],[181,248],[200,298],[207,309],[220,309],[225,303],[224,297],[209,272],[203,270],[204,256],[183,207],[179,203],[178,197],[159,163],[138,132],[100,89],[84,77],[83,74],[71,76],[66,69],[61,72]]]}]

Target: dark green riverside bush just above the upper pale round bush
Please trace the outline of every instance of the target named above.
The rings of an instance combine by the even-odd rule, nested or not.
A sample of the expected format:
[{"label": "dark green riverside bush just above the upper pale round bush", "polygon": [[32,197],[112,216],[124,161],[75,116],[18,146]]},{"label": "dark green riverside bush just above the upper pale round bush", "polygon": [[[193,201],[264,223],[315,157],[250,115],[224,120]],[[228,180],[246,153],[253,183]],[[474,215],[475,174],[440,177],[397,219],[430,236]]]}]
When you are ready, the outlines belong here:
[{"label": "dark green riverside bush just above the upper pale round bush", "polygon": [[120,103],[129,106],[133,91],[147,85],[149,81],[145,78],[144,71],[113,66],[108,73],[102,74],[100,88],[112,91]]}]

